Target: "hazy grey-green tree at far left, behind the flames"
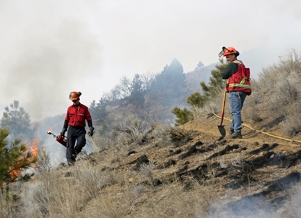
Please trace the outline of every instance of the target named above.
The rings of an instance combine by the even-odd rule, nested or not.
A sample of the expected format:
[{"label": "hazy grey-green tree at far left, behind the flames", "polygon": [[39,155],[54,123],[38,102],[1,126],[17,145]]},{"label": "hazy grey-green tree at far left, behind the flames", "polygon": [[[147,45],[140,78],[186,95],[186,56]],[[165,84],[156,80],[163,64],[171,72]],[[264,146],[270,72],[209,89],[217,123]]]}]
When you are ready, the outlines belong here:
[{"label": "hazy grey-green tree at far left, behind the flames", "polygon": [[31,139],[32,129],[30,129],[30,115],[24,108],[19,107],[19,101],[13,101],[10,105],[11,110],[6,107],[1,120],[1,127],[8,129],[13,137],[21,139]]}]

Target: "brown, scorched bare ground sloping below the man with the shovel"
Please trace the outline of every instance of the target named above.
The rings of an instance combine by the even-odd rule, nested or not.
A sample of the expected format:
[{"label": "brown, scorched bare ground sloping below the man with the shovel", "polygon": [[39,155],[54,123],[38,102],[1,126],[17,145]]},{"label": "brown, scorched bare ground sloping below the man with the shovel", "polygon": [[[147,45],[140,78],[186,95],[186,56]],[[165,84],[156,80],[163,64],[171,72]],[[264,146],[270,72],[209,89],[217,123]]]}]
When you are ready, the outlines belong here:
[{"label": "brown, scorched bare ground sloping below the man with the shovel", "polygon": [[[212,206],[208,211],[211,217],[218,217],[221,208],[238,217],[247,217],[254,210],[280,212],[290,190],[300,183],[301,144],[247,128],[243,128],[243,139],[221,139],[215,117],[174,128],[167,132],[172,143],[163,144],[150,136],[131,150],[108,149],[82,159],[100,167],[100,174],[115,175],[113,181],[101,186],[102,193],[124,193],[124,186],[130,186],[144,194],[132,203],[135,210],[124,210],[122,217],[139,217],[143,205],[151,207],[145,195],[163,196],[172,184],[182,184],[189,193],[196,183],[210,188],[219,201],[218,208]],[[72,177],[72,173],[65,173],[65,177]],[[118,182],[120,177],[122,182]],[[141,188],[146,186],[150,192]],[[122,202],[123,198],[117,199]],[[163,198],[159,199],[162,202],[158,204],[164,205]]]}]

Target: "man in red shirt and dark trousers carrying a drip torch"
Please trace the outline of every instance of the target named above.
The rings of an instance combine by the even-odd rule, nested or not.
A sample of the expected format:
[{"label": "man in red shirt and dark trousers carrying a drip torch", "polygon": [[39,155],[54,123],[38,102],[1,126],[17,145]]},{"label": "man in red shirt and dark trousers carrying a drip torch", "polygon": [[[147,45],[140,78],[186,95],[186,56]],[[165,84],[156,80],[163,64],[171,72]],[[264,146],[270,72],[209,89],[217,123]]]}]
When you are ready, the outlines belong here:
[{"label": "man in red shirt and dark trousers carrying a drip torch", "polygon": [[[73,165],[75,163],[77,154],[81,152],[82,148],[86,145],[86,129],[84,128],[86,127],[86,120],[89,127],[88,136],[93,136],[94,131],[92,118],[87,106],[79,102],[79,96],[81,95],[82,93],[80,91],[70,92],[69,99],[73,102],[73,105],[67,110],[64,126],[62,132],[60,132],[60,134],[64,136],[69,126],[66,151],[68,165]],[[76,146],[75,141],[77,141]]]}]

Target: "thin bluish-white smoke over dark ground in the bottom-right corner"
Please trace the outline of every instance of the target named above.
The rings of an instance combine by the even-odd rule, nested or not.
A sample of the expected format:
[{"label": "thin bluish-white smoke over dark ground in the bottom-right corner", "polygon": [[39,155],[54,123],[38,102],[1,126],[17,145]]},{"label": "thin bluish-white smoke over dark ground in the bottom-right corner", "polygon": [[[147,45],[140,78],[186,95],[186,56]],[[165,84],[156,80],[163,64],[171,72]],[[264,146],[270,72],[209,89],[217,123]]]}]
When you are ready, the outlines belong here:
[{"label": "thin bluish-white smoke over dark ground in the bottom-right corner", "polygon": [[[271,181],[271,184],[264,187],[264,190],[260,186],[258,188],[256,193],[246,195],[238,200],[235,200],[235,197],[229,197],[228,194],[224,195],[224,202],[219,200],[214,203],[208,212],[208,217],[280,218],[283,217],[283,214],[286,214],[286,217],[300,217],[301,184],[299,172],[290,172],[286,177]],[[231,190],[231,192],[234,195],[241,193],[238,190]],[[229,193],[229,195],[233,193]]]}]

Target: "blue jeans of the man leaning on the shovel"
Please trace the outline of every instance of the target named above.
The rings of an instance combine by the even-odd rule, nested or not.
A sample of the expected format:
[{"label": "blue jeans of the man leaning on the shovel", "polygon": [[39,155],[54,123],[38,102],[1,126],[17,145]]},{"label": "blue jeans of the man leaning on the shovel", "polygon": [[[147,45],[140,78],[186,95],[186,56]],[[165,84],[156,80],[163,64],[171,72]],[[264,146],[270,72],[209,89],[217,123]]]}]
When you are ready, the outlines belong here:
[{"label": "blue jeans of the man leaning on the shovel", "polygon": [[241,132],[241,109],[243,109],[243,102],[247,94],[243,91],[231,91],[229,95],[230,110],[232,115],[232,122],[230,129],[234,132]]}]

